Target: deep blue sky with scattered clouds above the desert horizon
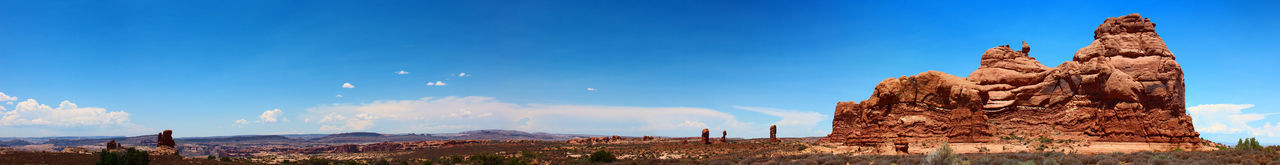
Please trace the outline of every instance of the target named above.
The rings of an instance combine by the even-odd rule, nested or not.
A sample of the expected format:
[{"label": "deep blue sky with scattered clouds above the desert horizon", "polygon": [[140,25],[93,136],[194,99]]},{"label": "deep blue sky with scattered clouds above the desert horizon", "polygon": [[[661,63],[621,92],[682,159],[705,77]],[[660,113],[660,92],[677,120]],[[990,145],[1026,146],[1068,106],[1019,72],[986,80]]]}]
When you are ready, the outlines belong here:
[{"label": "deep blue sky with scattered clouds above the desert horizon", "polygon": [[[68,101],[74,105],[64,110],[92,116],[9,122],[0,137],[160,129],[178,137],[468,129],[692,136],[700,128],[767,137],[769,124],[787,137],[824,136],[837,101],[865,100],[884,78],[968,75],[984,50],[1019,41],[1055,67],[1087,46],[1105,18],[1140,13],[1181,64],[1188,107],[1228,104],[1196,109],[1215,114],[1193,115],[1198,125],[1235,128],[1201,130],[1203,137],[1280,142],[1280,124],[1272,124],[1280,116],[1271,115],[1280,91],[1268,86],[1277,83],[1271,75],[1280,73],[1280,55],[1266,51],[1280,46],[1280,13],[1271,6],[0,1],[0,92],[12,97],[0,107]],[[1233,123],[1242,118],[1256,120]]]}]

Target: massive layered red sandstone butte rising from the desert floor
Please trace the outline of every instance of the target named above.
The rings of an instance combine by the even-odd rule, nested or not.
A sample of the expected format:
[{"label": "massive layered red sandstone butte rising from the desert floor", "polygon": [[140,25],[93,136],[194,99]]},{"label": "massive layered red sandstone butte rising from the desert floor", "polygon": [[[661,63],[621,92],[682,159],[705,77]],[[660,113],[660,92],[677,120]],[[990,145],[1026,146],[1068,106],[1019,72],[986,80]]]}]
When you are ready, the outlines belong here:
[{"label": "massive layered red sandstone butte rising from the desert floor", "polygon": [[1201,142],[1185,113],[1183,70],[1138,14],[1107,18],[1093,43],[1048,68],[1007,45],[987,50],[968,78],[929,70],[888,78],[870,98],[838,102],[844,145],[992,142],[1039,134],[1097,142]]}]

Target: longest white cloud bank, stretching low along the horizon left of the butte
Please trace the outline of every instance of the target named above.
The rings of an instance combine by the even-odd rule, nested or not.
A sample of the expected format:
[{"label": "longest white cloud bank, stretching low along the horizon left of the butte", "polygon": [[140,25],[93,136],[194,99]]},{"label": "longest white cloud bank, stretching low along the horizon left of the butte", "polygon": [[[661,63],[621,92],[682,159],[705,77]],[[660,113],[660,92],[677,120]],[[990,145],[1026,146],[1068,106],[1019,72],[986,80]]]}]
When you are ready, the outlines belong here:
[{"label": "longest white cloud bank, stretching low along the horizon left of the butte", "polygon": [[[810,113],[768,107],[745,107],[783,114],[778,123],[817,125]],[[774,114],[778,115],[778,114]],[[517,129],[529,132],[594,133],[627,136],[698,136],[703,128],[727,129],[733,137],[768,137],[768,124],[740,122],[736,116],[701,107],[637,107],[599,105],[509,104],[493,97],[440,97],[384,100],[367,104],[333,104],[310,107],[305,118],[323,132],[396,130],[458,132],[471,129]],[[355,116],[355,118],[352,118]],[[376,119],[376,120],[375,120]],[[801,129],[796,129],[797,132]],[[804,130],[812,130],[804,129]],[[787,136],[823,136],[805,132]]]}]

